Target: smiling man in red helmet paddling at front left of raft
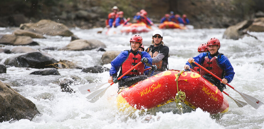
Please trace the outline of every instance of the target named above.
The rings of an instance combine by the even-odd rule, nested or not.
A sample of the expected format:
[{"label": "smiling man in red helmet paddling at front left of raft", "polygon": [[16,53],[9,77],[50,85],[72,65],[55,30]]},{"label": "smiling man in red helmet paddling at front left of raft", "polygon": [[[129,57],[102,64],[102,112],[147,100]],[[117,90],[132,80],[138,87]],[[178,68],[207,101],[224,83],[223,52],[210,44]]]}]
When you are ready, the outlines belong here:
[{"label": "smiling man in red helmet paddling at front left of raft", "polygon": [[[108,79],[109,83],[118,83],[119,88],[129,87],[136,82],[147,79],[148,71],[144,72],[144,68],[146,66],[145,63],[152,64],[152,58],[147,52],[138,51],[139,47],[142,45],[142,37],[138,34],[133,35],[130,38],[130,50],[122,51],[113,61],[111,61],[110,68],[110,77]],[[138,64],[139,62],[143,62],[134,70],[130,71],[120,80],[117,80],[117,72],[120,69],[119,77],[130,70],[133,66]],[[152,66],[153,70],[157,69],[157,66]]]}]

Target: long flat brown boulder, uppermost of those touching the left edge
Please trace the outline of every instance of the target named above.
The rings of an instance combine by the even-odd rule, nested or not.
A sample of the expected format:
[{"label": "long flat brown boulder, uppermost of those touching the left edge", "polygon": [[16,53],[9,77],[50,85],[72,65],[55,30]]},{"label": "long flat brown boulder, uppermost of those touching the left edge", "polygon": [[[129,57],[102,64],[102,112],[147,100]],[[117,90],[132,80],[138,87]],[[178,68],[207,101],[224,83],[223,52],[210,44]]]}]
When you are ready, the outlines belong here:
[{"label": "long flat brown boulder, uppermost of those touching the left edge", "polygon": [[39,45],[34,42],[29,36],[16,36],[13,34],[6,34],[0,39],[0,44],[6,45]]}]

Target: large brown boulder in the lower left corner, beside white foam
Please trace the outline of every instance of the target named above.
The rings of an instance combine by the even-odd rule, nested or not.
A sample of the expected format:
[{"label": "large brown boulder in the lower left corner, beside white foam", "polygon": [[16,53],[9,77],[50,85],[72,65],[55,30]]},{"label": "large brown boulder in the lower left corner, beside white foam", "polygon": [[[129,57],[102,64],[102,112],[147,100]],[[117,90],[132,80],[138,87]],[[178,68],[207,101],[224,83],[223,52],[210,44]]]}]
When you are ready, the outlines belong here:
[{"label": "large brown boulder in the lower left corner, beside white foam", "polygon": [[40,114],[36,105],[0,81],[0,122],[29,119]]}]

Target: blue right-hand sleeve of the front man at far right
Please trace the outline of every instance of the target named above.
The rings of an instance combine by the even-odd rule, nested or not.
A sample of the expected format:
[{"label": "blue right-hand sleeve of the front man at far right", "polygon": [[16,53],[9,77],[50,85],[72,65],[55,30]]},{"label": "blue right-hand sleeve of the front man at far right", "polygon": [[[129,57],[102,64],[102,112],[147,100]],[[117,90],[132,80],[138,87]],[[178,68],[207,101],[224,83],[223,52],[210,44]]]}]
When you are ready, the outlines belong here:
[{"label": "blue right-hand sleeve of the front man at far right", "polygon": [[[219,59],[219,56],[218,56],[218,59]],[[227,83],[230,83],[234,78],[235,72],[234,72],[234,68],[231,65],[229,59],[226,56],[221,55],[221,58],[218,60],[218,63],[220,67],[223,68],[225,71],[225,79],[228,81]]]}]

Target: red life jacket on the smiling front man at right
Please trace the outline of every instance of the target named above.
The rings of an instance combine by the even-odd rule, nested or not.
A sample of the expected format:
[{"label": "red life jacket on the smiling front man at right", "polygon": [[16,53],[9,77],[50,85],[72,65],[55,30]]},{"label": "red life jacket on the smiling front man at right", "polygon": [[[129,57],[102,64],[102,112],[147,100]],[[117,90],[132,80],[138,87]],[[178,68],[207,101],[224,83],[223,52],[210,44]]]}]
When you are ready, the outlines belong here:
[{"label": "red life jacket on the smiling front man at right", "polygon": [[[221,58],[221,55],[223,55],[222,53],[218,53],[215,57],[211,58],[211,60],[208,58],[208,54],[209,52],[206,53],[206,56],[204,58],[204,63],[202,64],[203,67],[205,67],[207,70],[209,70],[210,72],[212,72],[213,74],[215,74],[217,77],[219,78],[224,78],[224,70],[219,66],[217,58],[219,56],[219,58]],[[213,77],[212,75],[210,75],[208,72],[206,72],[204,69],[200,69],[200,75],[201,76],[209,76],[209,77]]]}]

